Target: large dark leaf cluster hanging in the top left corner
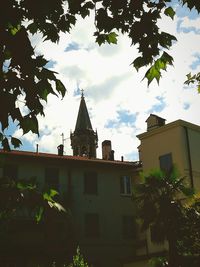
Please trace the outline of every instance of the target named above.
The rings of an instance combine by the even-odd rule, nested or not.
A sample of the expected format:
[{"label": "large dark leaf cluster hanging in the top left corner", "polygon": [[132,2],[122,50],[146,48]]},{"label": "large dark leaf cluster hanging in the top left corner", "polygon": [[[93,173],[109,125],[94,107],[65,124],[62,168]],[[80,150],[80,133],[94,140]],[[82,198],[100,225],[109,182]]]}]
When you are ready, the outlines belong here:
[{"label": "large dark leaf cluster hanging in the top left corner", "polygon": [[50,94],[65,95],[65,86],[45,67],[47,60],[36,54],[29,40],[29,34],[41,32],[46,40],[58,41],[59,31],[75,22],[68,17],[63,26],[63,13],[63,1],[42,1],[38,8],[34,1],[9,0],[0,11],[0,141],[6,150],[21,145],[4,133],[10,119],[23,134],[39,134],[37,117],[44,116],[43,101]]}]

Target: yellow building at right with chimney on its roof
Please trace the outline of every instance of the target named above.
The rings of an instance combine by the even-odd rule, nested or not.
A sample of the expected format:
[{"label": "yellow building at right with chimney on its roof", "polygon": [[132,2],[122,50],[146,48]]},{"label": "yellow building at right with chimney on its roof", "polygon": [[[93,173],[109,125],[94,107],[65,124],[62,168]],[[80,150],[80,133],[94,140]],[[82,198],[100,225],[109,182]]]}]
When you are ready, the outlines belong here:
[{"label": "yellow building at right with chimney on its roof", "polygon": [[169,170],[175,165],[192,187],[200,189],[200,126],[183,120],[165,124],[165,119],[151,114],[147,131],[137,135],[139,159],[146,173],[152,169]]}]

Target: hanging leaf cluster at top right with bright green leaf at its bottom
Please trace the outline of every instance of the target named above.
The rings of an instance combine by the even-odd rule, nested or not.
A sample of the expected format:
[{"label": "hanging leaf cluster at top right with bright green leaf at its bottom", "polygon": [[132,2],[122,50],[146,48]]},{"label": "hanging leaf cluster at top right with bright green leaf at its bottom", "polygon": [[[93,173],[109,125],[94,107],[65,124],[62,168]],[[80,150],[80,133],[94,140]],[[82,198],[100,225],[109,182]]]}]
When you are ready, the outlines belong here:
[{"label": "hanging leaf cluster at top right with bright green leaf at its bottom", "polygon": [[[173,59],[165,50],[169,50],[176,38],[169,33],[162,32],[158,25],[161,15],[175,16],[170,1],[123,0],[123,1],[95,1],[99,8],[95,9],[96,41],[101,45],[109,42],[107,35],[122,32],[129,36],[132,45],[138,45],[140,56],[133,61],[138,70],[150,66],[145,74],[148,84],[153,79],[159,81],[161,71],[171,65]],[[117,36],[117,35],[116,35]],[[113,43],[116,43],[114,40]]]}]

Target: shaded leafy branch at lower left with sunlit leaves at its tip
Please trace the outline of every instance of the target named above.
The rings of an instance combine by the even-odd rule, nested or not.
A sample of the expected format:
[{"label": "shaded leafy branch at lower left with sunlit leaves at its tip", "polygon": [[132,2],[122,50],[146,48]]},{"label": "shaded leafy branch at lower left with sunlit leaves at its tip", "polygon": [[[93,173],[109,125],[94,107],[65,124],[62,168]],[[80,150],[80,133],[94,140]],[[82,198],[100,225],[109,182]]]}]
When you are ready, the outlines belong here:
[{"label": "shaded leafy branch at lower left with sunlit leaves at its tip", "polygon": [[51,189],[41,193],[34,178],[13,180],[0,179],[0,222],[13,220],[15,217],[35,220],[39,223],[49,209],[66,210],[54,200],[58,193]]}]

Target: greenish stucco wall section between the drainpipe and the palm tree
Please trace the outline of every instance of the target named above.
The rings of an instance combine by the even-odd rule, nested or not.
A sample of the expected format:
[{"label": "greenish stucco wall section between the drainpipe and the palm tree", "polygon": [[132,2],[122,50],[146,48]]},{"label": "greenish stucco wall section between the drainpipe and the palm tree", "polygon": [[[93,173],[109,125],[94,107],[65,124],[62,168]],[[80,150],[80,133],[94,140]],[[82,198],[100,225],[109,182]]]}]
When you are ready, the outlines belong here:
[{"label": "greenish stucco wall section between the drainpipe and the palm tree", "polygon": [[[98,194],[84,194],[84,171],[98,172]],[[105,259],[103,266],[111,266],[109,259],[123,261],[134,255],[134,240],[124,240],[122,236],[122,216],[134,215],[134,202],[131,197],[120,195],[120,176],[130,175],[127,171],[113,169],[83,168],[71,169],[72,174],[72,212],[79,229],[79,242],[89,257],[98,254],[99,261]],[[84,234],[84,215],[97,212],[100,220],[100,236],[86,238]],[[89,252],[93,250],[92,254]],[[107,257],[105,257],[107,255]],[[96,256],[97,257],[97,256]],[[106,262],[108,261],[108,262]],[[107,264],[107,265],[106,265]]]}]

